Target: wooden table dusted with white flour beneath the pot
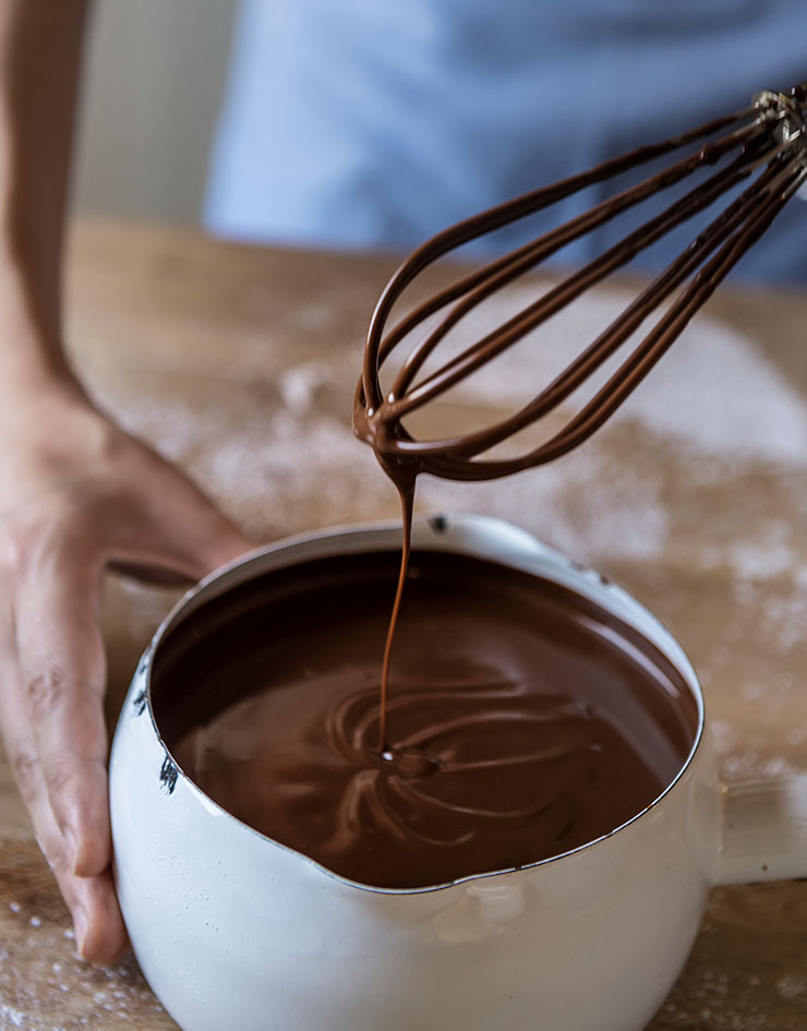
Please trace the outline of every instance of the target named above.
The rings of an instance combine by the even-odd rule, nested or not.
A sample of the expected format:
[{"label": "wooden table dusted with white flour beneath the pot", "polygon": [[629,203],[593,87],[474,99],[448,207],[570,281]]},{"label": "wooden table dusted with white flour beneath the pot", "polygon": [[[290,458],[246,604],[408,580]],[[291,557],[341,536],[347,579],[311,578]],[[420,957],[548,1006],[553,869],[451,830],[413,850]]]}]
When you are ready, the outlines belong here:
[{"label": "wooden table dusted with white flour beneath the pot", "polygon": [[[392,517],[393,493],[349,430],[363,333],[392,267],[82,226],[71,345],[100,403],[256,538]],[[499,299],[494,316],[535,289]],[[517,355],[437,420],[490,418],[507,393],[529,396],[542,362],[579,347],[625,289],[551,326],[545,350]],[[807,768],[806,323],[798,295],[725,289],[579,452],[497,484],[421,491],[421,511],[513,518],[650,606],[700,673],[730,781]],[[110,719],[170,601],[110,578]],[[174,1027],[133,961],[95,970],[73,957],[67,911],[2,762],[0,838],[0,1031]],[[804,1031],[807,884],[715,890],[650,1028]]]}]

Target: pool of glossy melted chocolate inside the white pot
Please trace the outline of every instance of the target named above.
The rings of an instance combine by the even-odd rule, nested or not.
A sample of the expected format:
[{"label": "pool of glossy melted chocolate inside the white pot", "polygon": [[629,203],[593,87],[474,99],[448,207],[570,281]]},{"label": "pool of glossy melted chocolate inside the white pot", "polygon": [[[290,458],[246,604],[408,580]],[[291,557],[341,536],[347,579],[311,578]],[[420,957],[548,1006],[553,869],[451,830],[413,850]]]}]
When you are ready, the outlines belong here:
[{"label": "pool of glossy melted chocolate inside the white pot", "polygon": [[408,888],[574,849],[675,777],[697,712],[652,645],[571,591],[449,553],[412,555],[380,752],[396,564],[272,573],[160,646],[158,726],[224,808],[345,877]]}]

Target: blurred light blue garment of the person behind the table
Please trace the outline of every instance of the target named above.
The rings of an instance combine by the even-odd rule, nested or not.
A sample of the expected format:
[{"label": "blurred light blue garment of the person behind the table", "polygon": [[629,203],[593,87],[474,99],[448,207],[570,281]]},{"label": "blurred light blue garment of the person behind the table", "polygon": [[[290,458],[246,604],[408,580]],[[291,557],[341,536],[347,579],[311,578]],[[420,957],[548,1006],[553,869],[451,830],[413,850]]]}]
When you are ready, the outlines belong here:
[{"label": "blurred light blue garment of the person behind the table", "polygon": [[[240,13],[205,209],[208,228],[239,239],[411,248],[807,79],[804,0],[243,0]],[[625,231],[603,227],[561,257]],[[740,271],[807,279],[807,202]]]}]

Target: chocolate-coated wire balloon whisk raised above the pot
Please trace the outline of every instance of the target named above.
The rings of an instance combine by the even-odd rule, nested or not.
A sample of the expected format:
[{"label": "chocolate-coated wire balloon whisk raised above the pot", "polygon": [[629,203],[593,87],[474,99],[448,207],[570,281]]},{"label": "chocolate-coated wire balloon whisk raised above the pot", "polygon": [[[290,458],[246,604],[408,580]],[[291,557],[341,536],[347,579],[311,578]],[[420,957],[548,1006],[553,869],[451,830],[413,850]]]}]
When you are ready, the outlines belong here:
[{"label": "chocolate-coated wire balloon whisk raised above the pot", "polygon": [[[806,103],[807,82],[794,86],[790,95],[764,91],[757,94],[744,110],[661,143],[631,151],[590,171],[483,212],[433,237],[398,268],[373,313],[362,377],[354,399],[353,428],[357,435],[371,443],[382,463],[388,470],[397,470],[398,477],[409,470],[412,475],[430,472],[448,479],[489,479],[550,461],[576,447],[622,405],[731,268],[799,190],[807,178]],[[649,175],[585,214],[463,275],[387,329],[393,308],[400,296],[415,276],[437,259],[593,183],[690,146],[694,149],[664,170]],[[716,170],[704,181],[676,197],[660,214],[504,324],[470,343],[436,371],[418,379],[424,363],[448,333],[495,291],[534,269],[571,241],[707,166],[714,166]],[[418,440],[405,427],[404,420],[417,409],[502,355],[674,226],[707,208],[746,179],[750,179],[750,183],[529,404],[483,430],[447,439]],[[687,279],[678,296],[662,309],[666,299]],[[616,372],[549,440],[513,457],[485,456],[495,445],[556,409],[617,351],[648,316],[657,314],[658,321]],[[394,348],[432,316],[437,316],[436,325],[430,323],[385,394],[380,381],[383,363]]]}]

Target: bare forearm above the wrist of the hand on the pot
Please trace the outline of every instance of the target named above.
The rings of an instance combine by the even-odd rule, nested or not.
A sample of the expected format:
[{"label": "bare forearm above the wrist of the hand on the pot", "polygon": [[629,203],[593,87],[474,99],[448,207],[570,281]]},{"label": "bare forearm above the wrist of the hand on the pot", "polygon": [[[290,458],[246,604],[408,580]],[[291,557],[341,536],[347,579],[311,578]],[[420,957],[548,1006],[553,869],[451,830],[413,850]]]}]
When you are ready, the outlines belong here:
[{"label": "bare forearm above the wrist of the hand on the pot", "polygon": [[61,264],[88,0],[0,0],[0,393],[68,374]]}]

